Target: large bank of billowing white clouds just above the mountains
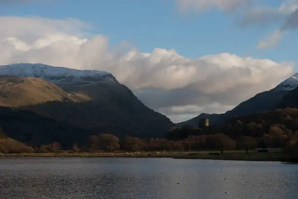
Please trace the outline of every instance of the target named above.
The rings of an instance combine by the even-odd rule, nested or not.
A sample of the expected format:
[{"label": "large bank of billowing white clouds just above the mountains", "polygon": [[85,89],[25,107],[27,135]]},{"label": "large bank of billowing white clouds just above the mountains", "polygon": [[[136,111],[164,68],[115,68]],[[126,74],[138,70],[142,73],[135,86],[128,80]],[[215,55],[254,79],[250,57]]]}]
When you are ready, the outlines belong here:
[{"label": "large bank of billowing white clouds just above the mountains", "polygon": [[294,72],[293,63],[226,52],[190,59],[166,49],[111,51],[107,37],[86,33],[89,25],[75,19],[0,17],[0,24],[1,64],[109,71],[145,104],[175,121],[224,112]]}]

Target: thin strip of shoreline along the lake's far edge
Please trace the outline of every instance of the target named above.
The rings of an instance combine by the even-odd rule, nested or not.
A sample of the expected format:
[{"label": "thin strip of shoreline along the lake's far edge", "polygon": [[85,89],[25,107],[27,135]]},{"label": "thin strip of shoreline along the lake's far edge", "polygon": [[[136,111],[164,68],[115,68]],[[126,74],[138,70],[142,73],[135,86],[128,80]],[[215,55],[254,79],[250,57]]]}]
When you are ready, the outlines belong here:
[{"label": "thin strip of shoreline along the lake's far edge", "polygon": [[[150,154],[150,155],[148,155]],[[204,153],[16,153],[16,154],[1,154],[0,158],[8,157],[97,157],[97,158],[172,158],[172,159],[188,159],[188,160],[228,160],[228,161],[260,161],[260,162],[298,162],[298,159],[283,157],[280,152],[272,154],[252,153],[245,154],[244,152],[226,152],[224,154],[204,154]]]}]

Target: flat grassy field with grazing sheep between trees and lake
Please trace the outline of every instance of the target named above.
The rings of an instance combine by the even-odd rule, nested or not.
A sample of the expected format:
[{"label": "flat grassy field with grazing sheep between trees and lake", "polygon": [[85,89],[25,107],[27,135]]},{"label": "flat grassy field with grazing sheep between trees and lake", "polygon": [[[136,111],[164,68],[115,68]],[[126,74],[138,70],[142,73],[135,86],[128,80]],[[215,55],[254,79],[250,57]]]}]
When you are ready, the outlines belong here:
[{"label": "flat grassy field with grazing sheep between trees and lake", "polygon": [[[176,159],[209,159],[209,160],[241,160],[241,161],[283,161],[280,150],[269,150],[270,154],[251,150],[246,154],[244,150],[224,151],[187,151],[187,152],[125,152],[116,151],[113,153],[98,152],[79,152],[70,153],[69,151],[60,151],[56,153],[19,153],[2,154],[4,157],[11,156],[29,156],[29,157],[134,157],[134,158],[176,158]],[[149,155],[150,154],[150,155]]]}]

